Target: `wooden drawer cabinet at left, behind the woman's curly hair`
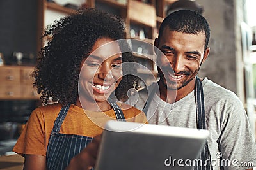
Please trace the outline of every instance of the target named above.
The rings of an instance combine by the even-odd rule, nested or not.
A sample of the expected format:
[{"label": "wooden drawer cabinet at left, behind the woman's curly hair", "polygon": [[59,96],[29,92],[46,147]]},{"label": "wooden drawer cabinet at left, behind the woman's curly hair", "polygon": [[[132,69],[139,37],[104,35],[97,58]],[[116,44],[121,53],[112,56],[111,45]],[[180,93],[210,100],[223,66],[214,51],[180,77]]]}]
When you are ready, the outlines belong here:
[{"label": "wooden drawer cabinet at left, behind the woman's curly hair", "polygon": [[39,99],[30,66],[0,66],[0,99]]}]

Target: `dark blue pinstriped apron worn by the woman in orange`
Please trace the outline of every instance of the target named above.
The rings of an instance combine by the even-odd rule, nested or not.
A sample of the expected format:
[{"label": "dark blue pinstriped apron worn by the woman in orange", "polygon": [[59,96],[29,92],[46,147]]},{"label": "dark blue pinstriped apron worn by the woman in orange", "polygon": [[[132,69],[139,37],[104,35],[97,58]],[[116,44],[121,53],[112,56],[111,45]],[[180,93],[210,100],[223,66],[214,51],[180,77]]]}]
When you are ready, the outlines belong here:
[{"label": "dark blue pinstriped apron worn by the woman in orange", "polygon": [[[116,114],[116,120],[125,121],[124,113],[111,99],[108,100]],[[47,146],[46,161],[48,170],[65,169],[70,160],[83,150],[92,137],[76,134],[61,134],[60,127],[65,119],[70,105],[63,106],[54,122]]]}]

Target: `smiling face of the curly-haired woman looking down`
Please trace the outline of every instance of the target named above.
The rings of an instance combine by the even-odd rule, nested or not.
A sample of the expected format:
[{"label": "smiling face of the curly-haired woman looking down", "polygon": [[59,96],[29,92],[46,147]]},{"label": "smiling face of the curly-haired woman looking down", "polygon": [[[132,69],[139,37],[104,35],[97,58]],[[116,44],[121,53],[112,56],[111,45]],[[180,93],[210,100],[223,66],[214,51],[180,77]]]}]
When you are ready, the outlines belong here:
[{"label": "smiling face of the curly-haired woman looking down", "polygon": [[[111,42],[111,43],[110,43]],[[117,41],[99,38],[82,62],[79,99],[86,103],[105,103],[122,80],[122,53]]]}]

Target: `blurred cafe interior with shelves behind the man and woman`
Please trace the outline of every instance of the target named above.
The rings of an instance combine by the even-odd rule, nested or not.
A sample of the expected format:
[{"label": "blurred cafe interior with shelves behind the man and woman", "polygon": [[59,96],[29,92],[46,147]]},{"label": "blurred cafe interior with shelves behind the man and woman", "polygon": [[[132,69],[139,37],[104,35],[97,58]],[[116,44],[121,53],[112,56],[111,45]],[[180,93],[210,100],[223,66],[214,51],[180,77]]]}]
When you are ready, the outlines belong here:
[{"label": "blurred cafe interior with shelves behind the man and woman", "polygon": [[1,0],[0,155],[13,154],[12,147],[31,111],[42,104],[31,79],[38,50],[51,39],[40,39],[42,33],[54,20],[86,7],[119,15],[127,25],[127,38],[149,44],[147,48],[132,45],[132,50],[138,52],[134,54],[138,62],[151,71],[148,74],[143,67],[138,68],[138,73],[146,78],[141,87],[157,77],[150,45],[163,18],[181,8],[202,13],[211,27],[211,52],[199,76],[207,76],[237,94],[255,134],[255,0]]}]

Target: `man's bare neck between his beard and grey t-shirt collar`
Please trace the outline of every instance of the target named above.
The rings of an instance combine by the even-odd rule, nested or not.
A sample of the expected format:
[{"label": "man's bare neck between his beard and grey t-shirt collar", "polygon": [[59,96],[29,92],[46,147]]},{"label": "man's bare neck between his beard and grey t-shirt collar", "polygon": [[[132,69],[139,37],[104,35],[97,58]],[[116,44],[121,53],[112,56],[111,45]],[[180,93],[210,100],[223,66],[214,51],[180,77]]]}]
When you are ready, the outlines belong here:
[{"label": "man's bare neck between his beard and grey t-shirt collar", "polygon": [[[159,90],[160,90],[160,98],[167,103],[173,104],[176,101],[179,101],[183,97],[187,96],[195,89],[195,80],[191,80],[185,87],[182,87],[179,90],[168,90],[165,85],[161,81],[158,82]],[[176,96],[176,97],[175,97]]]}]

